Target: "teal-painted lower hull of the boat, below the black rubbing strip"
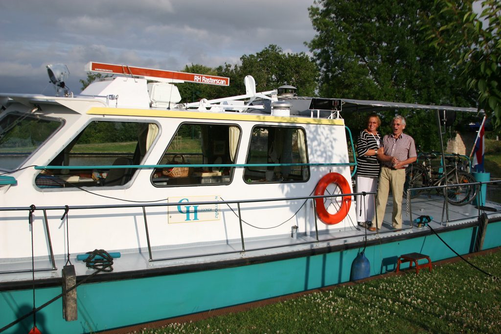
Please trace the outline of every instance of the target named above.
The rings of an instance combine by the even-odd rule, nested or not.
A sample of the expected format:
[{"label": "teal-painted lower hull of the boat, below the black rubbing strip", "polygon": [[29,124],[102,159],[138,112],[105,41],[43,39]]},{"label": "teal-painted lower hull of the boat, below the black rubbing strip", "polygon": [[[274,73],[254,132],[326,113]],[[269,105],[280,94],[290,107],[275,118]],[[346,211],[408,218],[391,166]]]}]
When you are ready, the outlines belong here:
[{"label": "teal-painted lower hull of the boat, below the black rubbing strip", "polygon": [[[488,225],[485,242],[494,244],[501,223]],[[495,232],[495,233],[494,233]],[[440,233],[458,253],[470,251],[476,227]],[[492,235],[492,237],[490,237]],[[499,246],[499,238],[494,246]],[[485,245],[485,243],[484,243]],[[487,248],[487,247],[484,247]],[[78,287],[78,320],[62,318],[59,299],[39,314],[37,326],[44,333],[85,333],[149,322],[174,316],[256,301],[346,282],[351,264],[362,249],[216,270],[84,284]],[[368,246],[371,275],[395,269],[397,256],[421,252],[433,261],[455,254],[435,235]],[[406,267],[403,265],[403,267]],[[61,292],[61,288],[37,289],[37,306]],[[2,291],[0,327],[32,309],[31,290]],[[120,305],[120,307],[117,307]],[[32,318],[7,333],[28,332]]]}]

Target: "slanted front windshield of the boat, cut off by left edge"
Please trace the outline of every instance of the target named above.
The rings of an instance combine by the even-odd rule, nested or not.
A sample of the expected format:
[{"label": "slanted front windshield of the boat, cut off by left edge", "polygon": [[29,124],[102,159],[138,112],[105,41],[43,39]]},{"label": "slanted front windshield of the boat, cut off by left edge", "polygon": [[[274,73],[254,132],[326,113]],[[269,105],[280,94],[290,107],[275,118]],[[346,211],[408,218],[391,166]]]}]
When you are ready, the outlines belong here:
[{"label": "slanted front windshield of the boat, cut off by left edge", "polygon": [[29,114],[9,114],[0,120],[0,170],[18,168],[63,124]]}]

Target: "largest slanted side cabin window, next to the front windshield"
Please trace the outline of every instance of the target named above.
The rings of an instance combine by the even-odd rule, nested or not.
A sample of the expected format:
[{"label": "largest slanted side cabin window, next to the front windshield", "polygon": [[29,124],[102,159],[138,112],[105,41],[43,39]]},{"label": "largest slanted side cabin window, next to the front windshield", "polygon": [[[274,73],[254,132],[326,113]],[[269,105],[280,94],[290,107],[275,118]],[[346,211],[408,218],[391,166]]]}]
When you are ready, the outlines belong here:
[{"label": "largest slanted side cabin window, next to the front windshield", "polygon": [[[93,121],[49,163],[78,168],[47,169],[36,178],[39,188],[111,187],[128,183],[158,135],[153,123]],[[86,168],[99,166],[100,168]]]}]

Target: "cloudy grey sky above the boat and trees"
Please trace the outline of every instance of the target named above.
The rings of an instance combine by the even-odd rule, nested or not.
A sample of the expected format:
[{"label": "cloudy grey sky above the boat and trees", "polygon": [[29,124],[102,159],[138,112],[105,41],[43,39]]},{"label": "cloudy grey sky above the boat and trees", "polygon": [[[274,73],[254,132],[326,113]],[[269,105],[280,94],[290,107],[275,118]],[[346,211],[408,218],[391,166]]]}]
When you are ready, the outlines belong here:
[{"label": "cloudy grey sky above the boat and trees", "polygon": [[52,95],[46,66],[62,63],[79,93],[90,61],[180,71],[238,64],[276,44],[305,52],[314,0],[0,1],[0,92]]}]

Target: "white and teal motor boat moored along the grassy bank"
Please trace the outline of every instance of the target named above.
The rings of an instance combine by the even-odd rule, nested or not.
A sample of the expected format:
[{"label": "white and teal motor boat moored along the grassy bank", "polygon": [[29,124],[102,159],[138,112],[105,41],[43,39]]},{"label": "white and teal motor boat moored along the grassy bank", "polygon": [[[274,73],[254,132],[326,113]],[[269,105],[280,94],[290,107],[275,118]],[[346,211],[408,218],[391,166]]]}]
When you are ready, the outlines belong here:
[{"label": "white and teal motor boat moored along the grassy bank", "polygon": [[96,62],[108,77],[74,95],[66,66],[47,70],[53,96],[0,94],[1,332],[117,330],[346,282],[360,254],[378,275],[404,253],[500,245],[493,202],[404,199],[401,232],[389,209],[377,232],[356,225],[343,115],[476,108],[256,92],[252,77],[180,103],[177,84],[229,79]]}]

